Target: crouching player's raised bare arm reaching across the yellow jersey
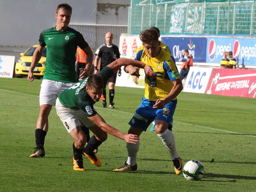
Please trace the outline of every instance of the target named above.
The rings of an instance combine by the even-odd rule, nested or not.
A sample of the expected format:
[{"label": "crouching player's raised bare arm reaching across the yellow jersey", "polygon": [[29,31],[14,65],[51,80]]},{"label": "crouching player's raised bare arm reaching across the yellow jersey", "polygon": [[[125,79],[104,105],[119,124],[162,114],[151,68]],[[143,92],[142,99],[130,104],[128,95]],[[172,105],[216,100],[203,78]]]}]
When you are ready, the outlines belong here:
[{"label": "crouching player's raised bare arm reaching across the yellow jersey", "polygon": [[[145,70],[145,73],[146,73],[147,76],[155,78],[154,71],[149,66],[142,63],[141,61],[120,58],[120,59],[115,60],[114,62],[112,62],[108,65],[108,67],[113,69],[114,73],[116,73],[120,69],[121,66],[128,66],[128,68],[132,68],[132,69],[134,67],[143,68]],[[137,69],[135,68],[135,70],[137,70]],[[137,75],[140,76],[139,73]]]}]

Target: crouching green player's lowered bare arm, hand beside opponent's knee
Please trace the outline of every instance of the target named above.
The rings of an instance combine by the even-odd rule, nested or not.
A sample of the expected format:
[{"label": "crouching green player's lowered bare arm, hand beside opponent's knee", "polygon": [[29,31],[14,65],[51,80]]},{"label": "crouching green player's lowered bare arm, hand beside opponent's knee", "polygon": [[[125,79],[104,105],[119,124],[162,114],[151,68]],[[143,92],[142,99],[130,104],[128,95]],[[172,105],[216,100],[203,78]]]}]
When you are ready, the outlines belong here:
[{"label": "crouching green player's lowered bare arm, hand beside opponent's knee", "polygon": [[100,127],[100,129],[102,129],[103,131],[119,139],[125,140],[127,143],[136,144],[140,139],[138,135],[125,134],[123,132],[118,131],[116,128],[108,125],[99,114],[96,114],[95,116],[92,116],[92,117],[88,117],[88,119],[92,121],[94,124],[96,124],[98,127]]}]

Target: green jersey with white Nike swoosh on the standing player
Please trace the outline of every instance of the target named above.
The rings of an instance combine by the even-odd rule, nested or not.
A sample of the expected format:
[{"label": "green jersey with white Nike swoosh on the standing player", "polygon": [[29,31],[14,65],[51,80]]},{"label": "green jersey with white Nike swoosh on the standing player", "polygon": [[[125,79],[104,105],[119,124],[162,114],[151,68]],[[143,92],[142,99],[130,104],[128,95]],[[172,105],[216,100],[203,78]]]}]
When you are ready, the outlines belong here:
[{"label": "green jersey with white Nike swoosh on the standing player", "polygon": [[81,33],[72,28],[58,31],[56,27],[46,29],[39,37],[41,47],[47,45],[44,79],[74,83],[76,79],[76,49],[89,45]]}]

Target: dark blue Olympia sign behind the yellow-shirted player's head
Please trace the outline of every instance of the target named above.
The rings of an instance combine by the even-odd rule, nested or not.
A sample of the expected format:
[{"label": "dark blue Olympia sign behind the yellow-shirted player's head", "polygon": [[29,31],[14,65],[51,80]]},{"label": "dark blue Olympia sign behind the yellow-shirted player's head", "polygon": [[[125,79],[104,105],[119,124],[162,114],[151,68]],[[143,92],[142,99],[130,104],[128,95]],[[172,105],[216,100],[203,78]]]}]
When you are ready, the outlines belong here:
[{"label": "dark blue Olympia sign behind the yellow-shirted player's head", "polygon": [[206,62],[205,37],[162,37],[161,41],[169,47],[175,61],[181,61],[183,50],[187,49],[193,62]]}]

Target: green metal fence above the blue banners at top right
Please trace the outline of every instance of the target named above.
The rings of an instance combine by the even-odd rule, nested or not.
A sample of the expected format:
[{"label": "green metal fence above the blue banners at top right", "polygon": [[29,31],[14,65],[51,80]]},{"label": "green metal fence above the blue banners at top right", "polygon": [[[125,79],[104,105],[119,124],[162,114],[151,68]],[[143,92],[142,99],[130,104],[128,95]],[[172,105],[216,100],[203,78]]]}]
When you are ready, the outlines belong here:
[{"label": "green metal fence above the blue banners at top right", "polygon": [[129,9],[128,33],[156,26],[161,34],[256,34],[255,0],[139,1]]}]

